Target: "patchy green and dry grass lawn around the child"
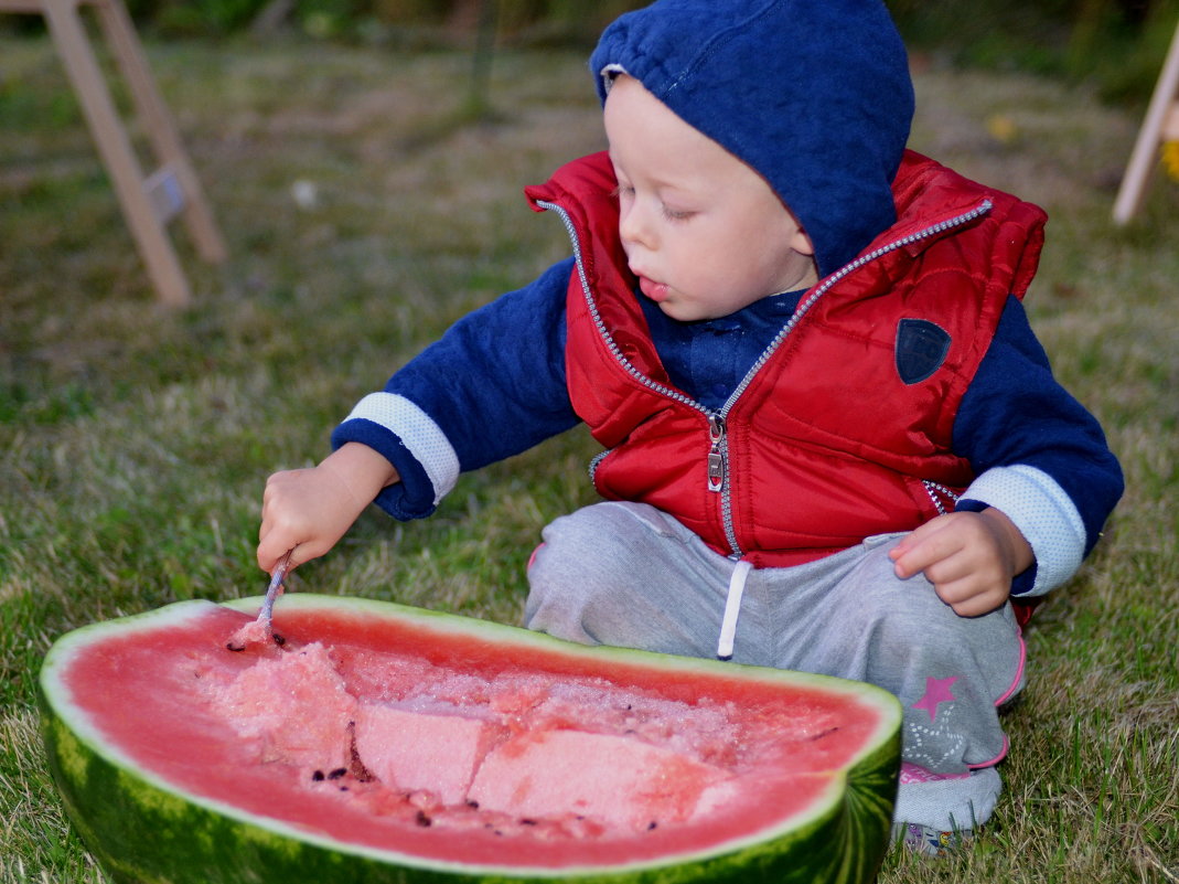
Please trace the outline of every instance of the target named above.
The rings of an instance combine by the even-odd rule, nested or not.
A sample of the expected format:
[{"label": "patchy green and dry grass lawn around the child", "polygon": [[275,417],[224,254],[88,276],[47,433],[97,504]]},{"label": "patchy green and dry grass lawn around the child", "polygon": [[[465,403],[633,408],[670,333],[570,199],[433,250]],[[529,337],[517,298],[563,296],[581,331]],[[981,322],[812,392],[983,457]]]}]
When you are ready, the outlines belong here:
[{"label": "patchy green and dry grass lawn around the child", "polygon": [[[52,639],[258,594],[265,477],[322,457],[360,395],[564,256],[520,189],[601,144],[572,54],[498,57],[486,125],[455,124],[463,55],[244,41],[150,55],[233,253],[203,267],[177,231],[185,312],[157,306],[50,44],[0,45],[0,882],[104,880],[38,745]],[[1179,185],[1158,179],[1117,230],[1137,114],[951,70],[921,73],[918,100],[914,146],[1049,210],[1028,305],[1128,491],[1029,631],[992,825],[960,858],[893,856],[881,880],[1175,882]],[[514,621],[540,528],[593,499],[593,450],[573,432],[465,477],[430,520],[367,513],[294,589]]]}]

